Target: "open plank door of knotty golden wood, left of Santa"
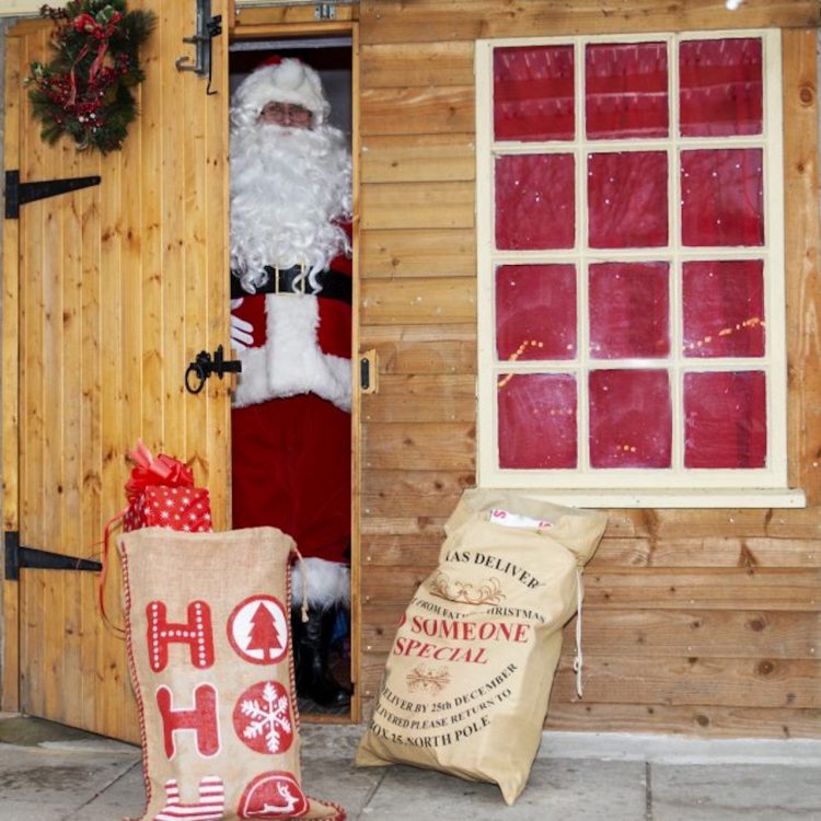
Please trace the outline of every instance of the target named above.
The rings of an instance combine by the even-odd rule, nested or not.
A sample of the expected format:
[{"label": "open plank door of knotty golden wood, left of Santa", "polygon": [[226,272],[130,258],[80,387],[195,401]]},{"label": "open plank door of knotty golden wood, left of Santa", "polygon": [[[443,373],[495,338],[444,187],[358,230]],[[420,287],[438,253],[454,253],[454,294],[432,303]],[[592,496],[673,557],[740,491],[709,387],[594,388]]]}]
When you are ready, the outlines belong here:
[{"label": "open plank door of knotty golden wood, left of Santa", "polygon": [[[24,79],[32,60],[49,59],[50,24],[11,32],[5,169],[22,183],[100,184],[21,206],[3,233],[3,707],[131,741],[125,641],[97,611],[99,573],[42,566],[100,559],[138,437],[192,465],[217,529],[230,465],[230,385],[184,386],[198,352],[229,349],[227,36],[212,39],[209,82],[175,67],[183,55],[194,63],[183,43],[194,0],[137,5],[158,15],[141,53],[140,115],[106,157],[41,140]],[[224,21],[223,0],[211,12]],[[122,625],[113,554],[105,595]]]}]

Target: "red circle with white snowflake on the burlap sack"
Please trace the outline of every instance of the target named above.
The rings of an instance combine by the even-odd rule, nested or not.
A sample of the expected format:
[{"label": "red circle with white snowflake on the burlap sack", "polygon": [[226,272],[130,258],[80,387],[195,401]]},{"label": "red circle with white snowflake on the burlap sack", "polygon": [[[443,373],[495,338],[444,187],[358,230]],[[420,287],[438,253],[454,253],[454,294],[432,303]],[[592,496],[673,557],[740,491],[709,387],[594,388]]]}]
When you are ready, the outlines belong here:
[{"label": "red circle with white snowflake on the burlap sack", "polygon": [[293,742],[288,694],[276,681],[248,687],[234,707],[233,721],[239,738],[256,752],[281,753]]}]

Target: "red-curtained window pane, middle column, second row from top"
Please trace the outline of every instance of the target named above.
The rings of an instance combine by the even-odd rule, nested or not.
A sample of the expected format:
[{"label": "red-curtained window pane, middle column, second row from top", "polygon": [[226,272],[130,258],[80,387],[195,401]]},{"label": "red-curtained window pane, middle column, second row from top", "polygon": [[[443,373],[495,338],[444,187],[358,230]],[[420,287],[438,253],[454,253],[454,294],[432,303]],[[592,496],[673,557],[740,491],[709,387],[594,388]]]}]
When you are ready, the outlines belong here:
[{"label": "red-curtained window pane, middle column, second row from top", "polygon": [[667,245],[667,153],[590,154],[587,186],[591,247]]}]

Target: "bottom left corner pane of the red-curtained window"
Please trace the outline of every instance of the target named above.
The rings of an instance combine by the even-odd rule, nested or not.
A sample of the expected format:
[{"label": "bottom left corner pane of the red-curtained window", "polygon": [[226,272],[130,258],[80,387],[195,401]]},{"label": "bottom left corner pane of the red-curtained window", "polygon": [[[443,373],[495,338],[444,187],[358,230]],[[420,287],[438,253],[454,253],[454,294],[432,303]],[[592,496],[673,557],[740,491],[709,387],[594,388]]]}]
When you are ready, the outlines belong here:
[{"label": "bottom left corner pane of the red-curtained window", "polygon": [[499,467],[576,467],[576,379],[502,373],[498,383]]}]

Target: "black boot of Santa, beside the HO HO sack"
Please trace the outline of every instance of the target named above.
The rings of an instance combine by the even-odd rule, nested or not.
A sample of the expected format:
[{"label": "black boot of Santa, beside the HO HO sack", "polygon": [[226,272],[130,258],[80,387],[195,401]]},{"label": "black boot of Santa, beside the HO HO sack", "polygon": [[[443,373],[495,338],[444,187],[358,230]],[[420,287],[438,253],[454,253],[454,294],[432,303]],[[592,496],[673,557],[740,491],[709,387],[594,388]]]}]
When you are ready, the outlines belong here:
[{"label": "black boot of Santa, beside the HO HO sack", "polygon": [[313,608],[303,622],[300,609],[291,611],[297,695],[328,709],[350,705],[350,691],[336,681],[328,668],[336,614],[336,608],[325,611]]}]

